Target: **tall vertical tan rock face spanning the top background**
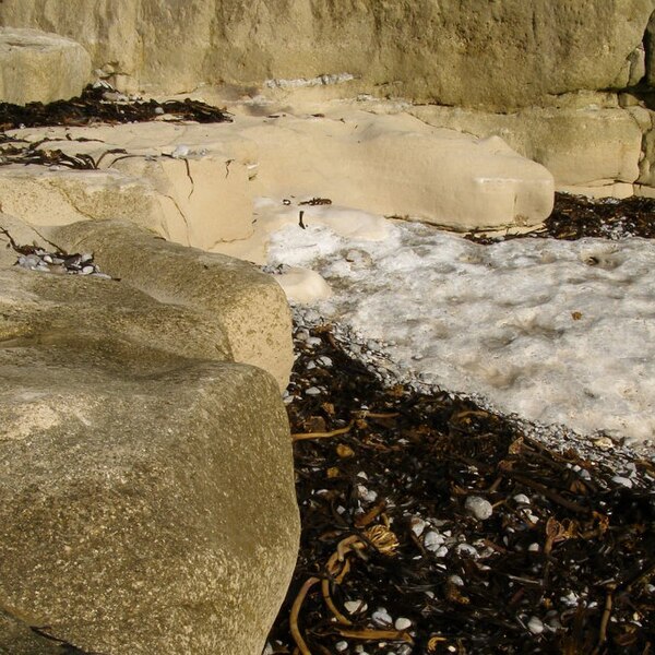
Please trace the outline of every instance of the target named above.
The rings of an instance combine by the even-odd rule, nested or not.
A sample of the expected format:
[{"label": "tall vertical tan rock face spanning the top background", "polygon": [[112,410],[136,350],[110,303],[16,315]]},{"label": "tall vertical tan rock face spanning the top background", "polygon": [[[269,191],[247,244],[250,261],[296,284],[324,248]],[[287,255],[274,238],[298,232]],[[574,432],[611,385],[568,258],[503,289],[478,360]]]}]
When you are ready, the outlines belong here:
[{"label": "tall vertical tan rock face spanning the top background", "polygon": [[84,0],[4,0],[0,21],[79,40],[127,90],[346,72],[359,88],[507,109],[626,86],[653,9],[652,0],[99,0],[93,10]]}]

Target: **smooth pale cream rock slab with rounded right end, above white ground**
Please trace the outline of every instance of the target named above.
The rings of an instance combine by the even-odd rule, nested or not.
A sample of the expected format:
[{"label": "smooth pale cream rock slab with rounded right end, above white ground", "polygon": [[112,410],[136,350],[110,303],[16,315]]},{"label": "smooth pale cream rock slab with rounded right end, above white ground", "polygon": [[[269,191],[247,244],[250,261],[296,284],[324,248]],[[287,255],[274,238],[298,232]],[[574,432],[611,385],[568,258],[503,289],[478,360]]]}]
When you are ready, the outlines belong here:
[{"label": "smooth pale cream rock slab with rounded right end, above white ground", "polygon": [[258,192],[329,198],[456,229],[531,225],[552,209],[552,176],[501,139],[476,140],[407,115],[286,115],[243,123],[259,148]]}]

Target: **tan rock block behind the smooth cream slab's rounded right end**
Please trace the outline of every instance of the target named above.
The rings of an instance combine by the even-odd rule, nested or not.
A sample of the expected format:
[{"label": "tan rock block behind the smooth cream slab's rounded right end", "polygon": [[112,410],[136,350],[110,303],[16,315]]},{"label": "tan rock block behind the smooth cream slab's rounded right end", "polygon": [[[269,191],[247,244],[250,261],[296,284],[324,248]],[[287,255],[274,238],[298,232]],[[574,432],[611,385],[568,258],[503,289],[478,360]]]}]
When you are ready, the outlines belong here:
[{"label": "tan rock block behind the smooth cream slab's rounded right end", "polygon": [[616,99],[602,95],[581,99],[582,106],[533,107],[514,114],[436,106],[415,107],[410,112],[433,126],[502,138],[517,153],[545,166],[558,189],[634,182],[642,142],[639,123]]}]

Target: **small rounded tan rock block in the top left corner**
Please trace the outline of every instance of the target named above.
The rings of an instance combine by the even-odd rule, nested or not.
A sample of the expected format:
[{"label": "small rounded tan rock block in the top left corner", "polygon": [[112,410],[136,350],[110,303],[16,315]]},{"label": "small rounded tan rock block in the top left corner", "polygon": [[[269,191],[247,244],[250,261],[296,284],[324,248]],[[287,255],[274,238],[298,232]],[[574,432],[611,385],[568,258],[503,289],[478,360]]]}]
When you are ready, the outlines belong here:
[{"label": "small rounded tan rock block in the top left corner", "polygon": [[91,57],[74,40],[38,29],[0,28],[1,102],[68,99],[80,95],[90,78]]}]

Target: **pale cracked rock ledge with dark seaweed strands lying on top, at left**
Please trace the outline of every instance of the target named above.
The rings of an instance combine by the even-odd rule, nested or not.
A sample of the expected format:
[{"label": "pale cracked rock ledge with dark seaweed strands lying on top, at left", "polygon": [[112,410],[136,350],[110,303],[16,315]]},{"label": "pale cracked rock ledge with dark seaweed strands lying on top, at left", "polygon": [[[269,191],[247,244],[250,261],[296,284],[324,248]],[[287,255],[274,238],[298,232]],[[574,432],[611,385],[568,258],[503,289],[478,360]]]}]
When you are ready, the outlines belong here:
[{"label": "pale cracked rock ledge with dark seaweed strands lying on top, at left", "polygon": [[39,150],[91,157],[98,166],[98,170],[0,167],[4,211],[33,225],[126,219],[205,250],[252,234],[248,165],[254,146],[229,124],[154,121],[29,128],[14,134],[40,143]]}]

